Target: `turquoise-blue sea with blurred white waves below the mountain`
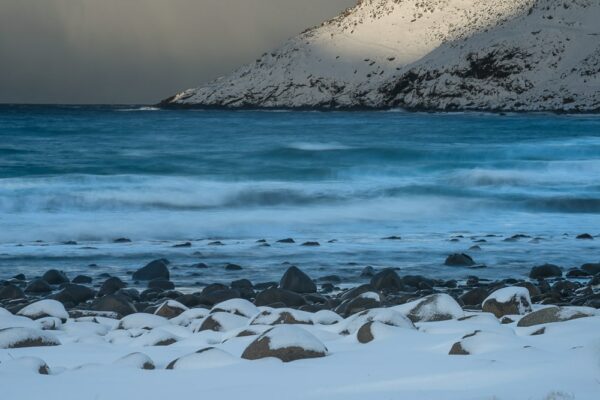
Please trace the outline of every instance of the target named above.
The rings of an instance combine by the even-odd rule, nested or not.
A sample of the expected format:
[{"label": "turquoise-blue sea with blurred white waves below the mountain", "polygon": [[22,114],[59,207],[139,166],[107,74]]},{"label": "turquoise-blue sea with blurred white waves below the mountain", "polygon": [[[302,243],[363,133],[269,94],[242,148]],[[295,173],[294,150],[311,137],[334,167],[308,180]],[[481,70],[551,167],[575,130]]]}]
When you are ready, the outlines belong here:
[{"label": "turquoise-blue sea with blurred white waves below the mountain", "polygon": [[[257,280],[284,261],[460,278],[445,254],[487,234],[479,275],[569,267],[600,260],[600,238],[574,239],[600,233],[600,118],[0,106],[0,226],[0,278],[157,256],[182,284],[235,278],[225,262]],[[542,240],[503,241],[515,233]],[[284,237],[322,246],[255,243]],[[186,275],[199,261],[215,268]]]}]

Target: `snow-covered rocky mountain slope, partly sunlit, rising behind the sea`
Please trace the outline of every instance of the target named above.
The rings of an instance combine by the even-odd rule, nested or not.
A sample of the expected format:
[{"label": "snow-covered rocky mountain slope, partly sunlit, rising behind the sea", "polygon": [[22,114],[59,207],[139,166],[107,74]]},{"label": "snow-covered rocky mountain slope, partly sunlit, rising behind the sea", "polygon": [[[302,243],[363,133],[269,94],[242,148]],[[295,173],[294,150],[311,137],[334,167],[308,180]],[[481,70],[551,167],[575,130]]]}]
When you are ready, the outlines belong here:
[{"label": "snow-covered rocky mountain slope, partly sunlit, rising behind the sea", "polygon": [[361,0],[165,106],[600,111],[599,0]]}]

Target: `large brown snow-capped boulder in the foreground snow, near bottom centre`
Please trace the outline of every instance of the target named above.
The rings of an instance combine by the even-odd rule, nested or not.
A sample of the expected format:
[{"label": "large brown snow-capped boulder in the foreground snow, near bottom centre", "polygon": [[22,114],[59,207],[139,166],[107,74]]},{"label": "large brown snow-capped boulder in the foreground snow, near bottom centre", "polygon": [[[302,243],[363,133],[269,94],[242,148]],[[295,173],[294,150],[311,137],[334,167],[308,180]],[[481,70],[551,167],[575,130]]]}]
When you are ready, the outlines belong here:
[{"label": "large brown snow-capped boulder in the foreground snow, near bottom centre", "polygon": [[305,358],[325,357],[327,347],[298,325],[277,325],[254,340],[242,354],[247,360],[266,357],[290,362]]}]

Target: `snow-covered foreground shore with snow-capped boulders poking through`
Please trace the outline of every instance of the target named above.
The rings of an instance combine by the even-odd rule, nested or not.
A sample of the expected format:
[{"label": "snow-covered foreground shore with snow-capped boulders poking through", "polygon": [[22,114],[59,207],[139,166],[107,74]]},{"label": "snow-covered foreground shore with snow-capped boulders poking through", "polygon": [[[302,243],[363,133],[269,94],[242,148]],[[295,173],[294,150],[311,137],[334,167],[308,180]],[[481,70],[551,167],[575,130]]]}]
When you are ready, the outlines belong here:
[{"label": "snow-covered foreground shore with snow-capped boulders poking through", "polygon": [[531,305],[527,290],[516,287],[492,293],[483,309],[490,312],[464,311],[435,294],[342,319],[241,299],[211,310],[170,300],[154,315],[119,320],[106,312],[69,316],[60,303],[42,300],[18,315],[0,309],[1,393],[61,400],[599,398],[597,310]]}]

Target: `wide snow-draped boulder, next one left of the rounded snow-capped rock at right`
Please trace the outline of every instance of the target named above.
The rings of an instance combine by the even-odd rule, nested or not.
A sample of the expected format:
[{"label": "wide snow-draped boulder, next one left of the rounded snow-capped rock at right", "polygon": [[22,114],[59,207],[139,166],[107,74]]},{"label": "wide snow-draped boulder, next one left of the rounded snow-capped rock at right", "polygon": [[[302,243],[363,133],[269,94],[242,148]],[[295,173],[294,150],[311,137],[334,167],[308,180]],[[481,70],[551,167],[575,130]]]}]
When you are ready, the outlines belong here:
[{"label": "wide snow-draped boulder, next one left of the rounded snow-capped rock at right", "polygon": [[445,321],[462,318],[465,314],[456,300],[445,293],[432,294],[392,308],[413,322]]}]

